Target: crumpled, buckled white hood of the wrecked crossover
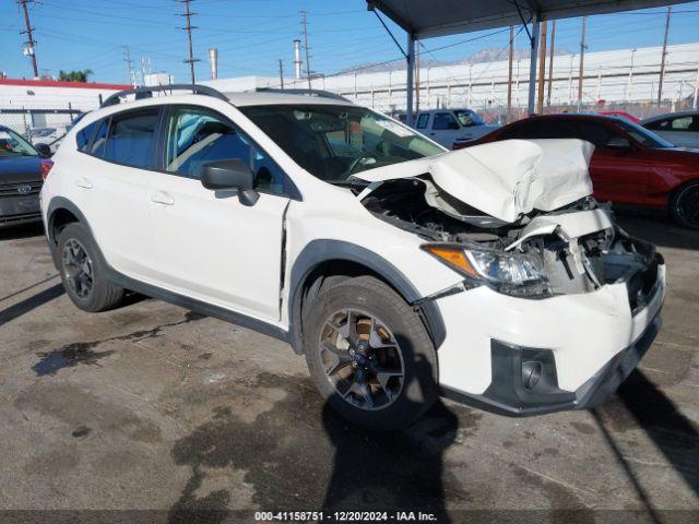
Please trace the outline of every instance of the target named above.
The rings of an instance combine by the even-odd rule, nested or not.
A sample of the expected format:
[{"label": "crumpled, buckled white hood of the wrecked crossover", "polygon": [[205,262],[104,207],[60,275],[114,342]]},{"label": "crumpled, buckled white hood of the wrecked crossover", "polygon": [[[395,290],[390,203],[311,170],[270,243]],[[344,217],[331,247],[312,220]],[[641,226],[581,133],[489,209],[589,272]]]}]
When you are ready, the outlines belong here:
[{"label": "crumpled, buckled white hood of the wrecked crossover", "polygon": [[[505,140],[358,172],[382,182],[429,176],[438,191],[512,223],[532,210],[554,211],[592,194],[594,146],[581,140]],[[370,184],[359,198],[367,196]],[[428,188],[429,189],[429,188]],[[428,198],[431,205],[439,199]],[[438,205],[439,206],[439,205]]]}]

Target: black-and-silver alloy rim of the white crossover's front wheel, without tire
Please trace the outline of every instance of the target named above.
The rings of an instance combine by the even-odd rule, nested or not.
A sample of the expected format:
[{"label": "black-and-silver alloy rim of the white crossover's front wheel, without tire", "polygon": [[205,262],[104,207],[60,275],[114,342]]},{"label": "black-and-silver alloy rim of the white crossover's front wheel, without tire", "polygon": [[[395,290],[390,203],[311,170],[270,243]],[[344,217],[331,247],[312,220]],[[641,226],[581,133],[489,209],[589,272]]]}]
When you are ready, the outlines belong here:
[{"label": "black-and-silver alloy rim of the white crossover's front wheel, without tire", "polygon": [[319,341],[325,377],[345,402],[376,410],[391,405],[405,379],[403,354],[386,323],[346,309],[324,323]]}]

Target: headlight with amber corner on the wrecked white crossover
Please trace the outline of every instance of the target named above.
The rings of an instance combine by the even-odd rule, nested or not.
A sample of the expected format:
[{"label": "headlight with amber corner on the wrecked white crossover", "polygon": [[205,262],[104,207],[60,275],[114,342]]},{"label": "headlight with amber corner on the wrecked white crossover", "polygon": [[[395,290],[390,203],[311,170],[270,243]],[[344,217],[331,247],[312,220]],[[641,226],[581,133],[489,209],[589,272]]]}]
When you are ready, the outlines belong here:
[{"label": "headlight with amber corner on the wrecked white crossover", "polygon": [[422,248],[466,276],[471,284],[485,284],[513,296],[550,294],[542,258],[536,252],[465,249],[462,246],[438,243],[426,243]]}]

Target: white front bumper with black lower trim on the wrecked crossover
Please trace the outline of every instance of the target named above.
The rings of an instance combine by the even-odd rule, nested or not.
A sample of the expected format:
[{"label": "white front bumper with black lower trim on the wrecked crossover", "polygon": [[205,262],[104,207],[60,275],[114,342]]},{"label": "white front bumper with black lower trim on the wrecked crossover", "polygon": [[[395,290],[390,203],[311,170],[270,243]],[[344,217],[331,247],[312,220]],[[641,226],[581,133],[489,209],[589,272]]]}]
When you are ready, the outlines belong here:
[{"label": "white front bumper with black lower trim on the wrecked crossover", "polygon": [[526,300],[472,289],[438,300],[442,394],[526,416],[603,403],[636,368],[661,325],[665,265],[642,306],[626,284]]}]

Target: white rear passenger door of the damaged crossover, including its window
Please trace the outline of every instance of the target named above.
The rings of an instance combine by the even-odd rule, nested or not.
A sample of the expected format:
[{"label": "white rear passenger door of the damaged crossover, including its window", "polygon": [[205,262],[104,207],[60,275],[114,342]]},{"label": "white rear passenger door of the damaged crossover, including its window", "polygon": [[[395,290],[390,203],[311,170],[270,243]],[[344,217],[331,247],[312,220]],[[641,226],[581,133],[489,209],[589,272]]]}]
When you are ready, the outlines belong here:
[{"label": "white rear passenger door of the damaged crossover, including its window", "polygon": [[90,138],[79,136],[75,165],[67,166],[75,187],[71,200],[87,217],[107,262],[138,279],[152,276],[149,177],[159,115],[159,107],[128,110],[88,126]]}]

